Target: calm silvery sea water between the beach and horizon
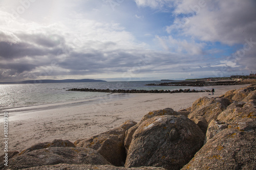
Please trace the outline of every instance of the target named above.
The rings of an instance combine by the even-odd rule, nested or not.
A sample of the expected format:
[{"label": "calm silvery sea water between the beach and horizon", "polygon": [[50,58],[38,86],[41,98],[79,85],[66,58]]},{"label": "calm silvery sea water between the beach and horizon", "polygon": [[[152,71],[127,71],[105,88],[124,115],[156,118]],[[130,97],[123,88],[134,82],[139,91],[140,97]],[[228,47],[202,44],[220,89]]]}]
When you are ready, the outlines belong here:
[{"label": "calm silvery sea water between the beach and horizon", "polygon": [[187,87],[145,86],[160,81],[138,82],[92,82],[92,83],[38,83],[38,84],[0,84],[0,109],[40,104],[59,103],[83,99],[93,99],[108,93],[66,91],[70,88],[96,89],[144,89],[175,90]]}]

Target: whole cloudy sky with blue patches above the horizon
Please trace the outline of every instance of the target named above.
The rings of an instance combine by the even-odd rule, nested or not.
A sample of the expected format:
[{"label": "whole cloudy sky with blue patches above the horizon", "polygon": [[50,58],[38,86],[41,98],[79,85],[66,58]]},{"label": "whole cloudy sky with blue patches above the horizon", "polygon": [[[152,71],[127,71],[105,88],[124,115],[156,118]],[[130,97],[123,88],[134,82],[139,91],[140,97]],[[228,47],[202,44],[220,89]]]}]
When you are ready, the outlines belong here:
[{"label": "whole cloudy sky with blue patches above the horizon", "polygon": [[0,82],[256,73],[255,0],[0,0]]}]

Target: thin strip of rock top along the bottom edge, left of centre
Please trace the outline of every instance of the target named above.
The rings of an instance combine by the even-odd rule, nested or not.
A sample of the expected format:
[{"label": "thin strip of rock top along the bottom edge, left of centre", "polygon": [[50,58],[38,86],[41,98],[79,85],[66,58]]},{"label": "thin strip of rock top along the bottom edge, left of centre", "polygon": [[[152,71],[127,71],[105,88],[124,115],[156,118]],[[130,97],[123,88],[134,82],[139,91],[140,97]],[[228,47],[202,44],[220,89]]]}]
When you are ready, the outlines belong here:
[{"label": "thin strip of rock top along the bottom edge, left of centre", "polygon": [[30,167],[25,168],[23,170],[165,170],[162,167],[132,167],[132,168],[125,168],[125,167],[117,167],[113,165],[70,165],[70,164],[58,164],[58,165],[47,165],[47,166],[39,166],[39,167]]}]

